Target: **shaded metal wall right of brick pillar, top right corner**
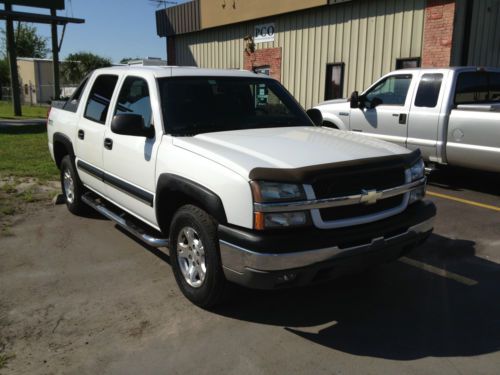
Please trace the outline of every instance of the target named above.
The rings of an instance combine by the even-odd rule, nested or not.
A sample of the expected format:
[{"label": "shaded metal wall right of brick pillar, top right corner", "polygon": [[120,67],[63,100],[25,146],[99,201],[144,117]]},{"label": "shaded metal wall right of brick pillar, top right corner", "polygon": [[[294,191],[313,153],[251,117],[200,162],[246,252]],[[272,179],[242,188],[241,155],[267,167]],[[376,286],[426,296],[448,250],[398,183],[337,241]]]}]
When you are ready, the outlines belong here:
[{"label": "shaded metal wall right of brick pillar, top right corner", "polygon": [[500,66],[500,1],[474,1],[468,65]]}]

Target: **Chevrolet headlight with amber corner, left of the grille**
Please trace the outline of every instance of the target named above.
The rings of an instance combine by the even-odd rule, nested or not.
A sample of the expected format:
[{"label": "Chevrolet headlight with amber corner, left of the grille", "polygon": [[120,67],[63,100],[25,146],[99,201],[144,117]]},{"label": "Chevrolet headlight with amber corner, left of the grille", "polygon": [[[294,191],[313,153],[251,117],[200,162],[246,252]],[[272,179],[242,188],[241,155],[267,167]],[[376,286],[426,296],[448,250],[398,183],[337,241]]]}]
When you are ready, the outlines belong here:
[{"label": "Chevrolet headlight with amber corner, left of the grille", "polygon": [[255,202],[297,201],[305,199],[302,185],[252,181],[251,186]]}]

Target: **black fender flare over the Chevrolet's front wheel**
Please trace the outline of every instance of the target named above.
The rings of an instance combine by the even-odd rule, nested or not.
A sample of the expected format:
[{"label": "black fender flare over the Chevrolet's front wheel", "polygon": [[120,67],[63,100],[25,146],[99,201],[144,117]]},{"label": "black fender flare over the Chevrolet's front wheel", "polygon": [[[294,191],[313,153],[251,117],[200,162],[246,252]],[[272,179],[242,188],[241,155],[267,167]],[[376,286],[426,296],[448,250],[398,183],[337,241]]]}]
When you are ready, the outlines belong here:
[{"label": "black fender flare over the Chevrolet's front wheel", "polygon": [[[156,219],[162,230],[170,226],[170,220],[175,210],[179,208],[179,202],[169,200],[169,196],[172,197],[172,200],[175,200],[176,197],[187,198],[189,202],[207,211],[219,223],[227,223],[224,205],[216,193],[185,177],[163,173],[158,178],[155,196]],[[165,209],[167,212],[163,211]]]}]

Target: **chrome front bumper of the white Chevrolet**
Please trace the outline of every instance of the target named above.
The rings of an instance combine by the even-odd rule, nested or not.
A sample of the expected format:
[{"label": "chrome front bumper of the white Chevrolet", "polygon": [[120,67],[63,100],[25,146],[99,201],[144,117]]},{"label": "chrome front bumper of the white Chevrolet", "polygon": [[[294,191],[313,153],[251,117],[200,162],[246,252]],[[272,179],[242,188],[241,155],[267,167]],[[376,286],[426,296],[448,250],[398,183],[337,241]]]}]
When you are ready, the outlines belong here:
[{"label": "chrome front bumper of the white Chevrolet", "polygon": [[247,270],[272,272],[284,271],[295,268],[311,266],[317,263],[334,260],[335,258],[349,255],[349,253],[363,253],[384,247],[397,246],[407,240],[417,238],[419,235],[430,232],[433,229],[434,217],[421,223],[413,225],[404,233],[384,238],[378,237],[360,246],[339,248],[337,246],[309,251],[298,251],[289,253],[258,253],[244,249],[235,244],[220,240],[220,254],[222,266],[226,277],[233,279],[234,274],[243,274]]}]

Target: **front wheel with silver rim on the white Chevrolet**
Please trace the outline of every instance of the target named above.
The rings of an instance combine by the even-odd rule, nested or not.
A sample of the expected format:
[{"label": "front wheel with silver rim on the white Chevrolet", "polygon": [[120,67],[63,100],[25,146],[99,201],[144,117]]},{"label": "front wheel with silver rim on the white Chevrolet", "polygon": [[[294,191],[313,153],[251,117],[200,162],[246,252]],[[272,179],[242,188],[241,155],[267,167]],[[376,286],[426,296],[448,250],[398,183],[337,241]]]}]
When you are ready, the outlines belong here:
[{"label": "front wheel with silver rim on the white Chevrolet", "polygon": [[184,296],[203,308],[220,303],[227,281],[222,271],[217,222],[198,207],[179,208],[170,227],[170,259]]}]

